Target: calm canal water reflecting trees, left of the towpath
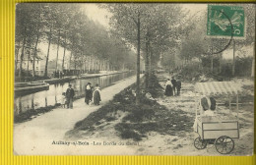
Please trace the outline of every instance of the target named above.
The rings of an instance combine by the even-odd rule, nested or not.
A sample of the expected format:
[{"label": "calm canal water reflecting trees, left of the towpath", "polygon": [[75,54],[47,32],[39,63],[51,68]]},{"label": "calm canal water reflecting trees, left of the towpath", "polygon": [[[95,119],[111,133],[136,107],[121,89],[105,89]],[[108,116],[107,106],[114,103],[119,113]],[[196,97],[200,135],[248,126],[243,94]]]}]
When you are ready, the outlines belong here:
[{"label": "calm canal water reflecting trees, left of the towpath", "polygon": [[[92,83],[93,86],[98,83],[100,88],[102,89],[103,87],[109,86],[133,75],[133,72],[127,72],[115,75],[102,76],[98,78],[78,79],[69,83],[71,83],[75,89],[75,96],[84,96],[86,84],[89,82]],[[61,103],[62,93],[66,92],[69,83],[50,84],[48,90],[42,90],[34,92],[32,94],[16,97],[14,114],[18,115],[28,110]]]}]

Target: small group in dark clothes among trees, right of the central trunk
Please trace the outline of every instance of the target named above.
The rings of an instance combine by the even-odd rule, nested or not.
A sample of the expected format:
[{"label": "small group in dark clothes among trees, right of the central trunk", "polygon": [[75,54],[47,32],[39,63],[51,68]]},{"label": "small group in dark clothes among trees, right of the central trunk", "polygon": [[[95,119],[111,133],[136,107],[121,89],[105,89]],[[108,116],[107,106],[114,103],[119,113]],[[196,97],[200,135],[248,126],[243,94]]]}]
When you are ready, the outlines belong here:
[{"label": "small group in dark clothes among trees, right of the central trunk", "polygon": [[171,81],[167,79],[165,83],[165,92],[166,96],[180,95],[181,82],[176,81],[174,77],[172,77]]}]

